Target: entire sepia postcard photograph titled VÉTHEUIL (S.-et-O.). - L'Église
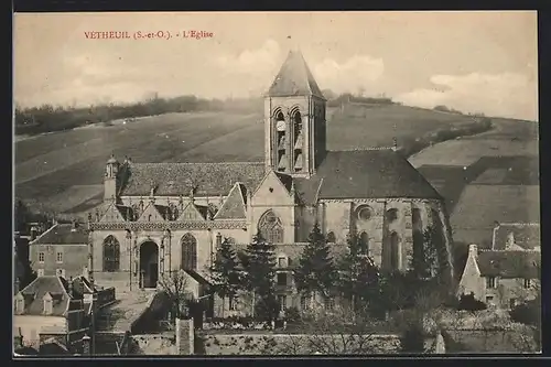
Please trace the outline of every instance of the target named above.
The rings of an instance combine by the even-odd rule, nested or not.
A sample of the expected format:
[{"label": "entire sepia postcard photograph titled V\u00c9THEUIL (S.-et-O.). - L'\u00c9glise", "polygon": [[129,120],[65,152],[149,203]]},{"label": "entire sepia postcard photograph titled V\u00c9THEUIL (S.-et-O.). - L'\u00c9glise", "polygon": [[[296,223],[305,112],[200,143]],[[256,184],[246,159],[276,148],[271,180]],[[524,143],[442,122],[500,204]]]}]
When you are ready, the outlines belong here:
[{"label": "entire sepia postcard photograph titled V\u00c9THEUIL (S.-et-O.). - L'\u00c9glise", "polygon": [[536,11],[13,15],[13,356],[541,354]]}]

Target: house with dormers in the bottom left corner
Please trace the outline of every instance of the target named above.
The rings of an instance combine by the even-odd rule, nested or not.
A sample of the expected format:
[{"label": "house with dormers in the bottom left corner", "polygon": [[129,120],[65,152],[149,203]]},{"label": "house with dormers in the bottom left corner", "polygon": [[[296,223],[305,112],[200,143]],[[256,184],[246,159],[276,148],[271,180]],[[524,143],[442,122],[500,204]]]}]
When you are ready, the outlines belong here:
[{"label": "house with dormers in the bottom left corner", "polygon": [[21,344],[36,349],[55,338],[74,350],[89,333],[83,294],[55,276],[39,277],[15,294],[13,325]]}]

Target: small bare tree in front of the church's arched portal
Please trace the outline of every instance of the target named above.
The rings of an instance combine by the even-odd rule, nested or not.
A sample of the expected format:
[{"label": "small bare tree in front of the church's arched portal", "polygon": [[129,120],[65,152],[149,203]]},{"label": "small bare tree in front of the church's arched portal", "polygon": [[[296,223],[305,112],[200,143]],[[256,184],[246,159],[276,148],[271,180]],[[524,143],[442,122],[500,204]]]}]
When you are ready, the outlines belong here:
[{"label": "small bare tree in front of the church's arched portal", "polygon": [[171,319],[182,319],[188,313],[193,294],[187,290],[187,274],[183,270],[169,271],[161,276],[159,285],[172,302]]}]

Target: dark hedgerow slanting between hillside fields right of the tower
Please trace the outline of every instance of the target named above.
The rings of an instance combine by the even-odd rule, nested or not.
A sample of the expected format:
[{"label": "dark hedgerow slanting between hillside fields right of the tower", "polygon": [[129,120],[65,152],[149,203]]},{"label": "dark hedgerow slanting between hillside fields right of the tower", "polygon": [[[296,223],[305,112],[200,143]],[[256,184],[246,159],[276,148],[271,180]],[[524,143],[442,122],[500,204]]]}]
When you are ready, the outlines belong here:
[{"label": "dark hedgerow slanting between hillside fields right of the tower", "polygon": [[421,150],[446,140],[458,137],[474,136],[491,129],[491,119],[487,117],[476,117],[472,122],[465,122],[460,126],[447,125],[435,131],[425,133],[419,138],[406,138],[400,143],[400,152],[406,156],[411,156]]}]

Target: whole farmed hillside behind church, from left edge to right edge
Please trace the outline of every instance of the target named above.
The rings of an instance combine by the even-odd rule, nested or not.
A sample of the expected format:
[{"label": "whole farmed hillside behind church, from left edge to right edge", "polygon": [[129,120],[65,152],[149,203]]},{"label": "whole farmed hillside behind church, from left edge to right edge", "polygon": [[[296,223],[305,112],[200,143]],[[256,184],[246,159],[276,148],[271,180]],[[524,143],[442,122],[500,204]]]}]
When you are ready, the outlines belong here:
[{"label": "whole farmed hillside behind church, from left edge to right edge", "polygon": [[[327,110],[331,150],[381,147],[462,127],[472,117],[404,106]],[[410,158],[446,198],[454,239],[486,242],[494,220],[539,222],[538,125],[493,119],[494,129],[434,144]],[[80,214],[101,203],[111,153],[134,162],[261,161],[258,114],[192,112],[90,126],[15,143],[15,194],[41,209]]]}]

